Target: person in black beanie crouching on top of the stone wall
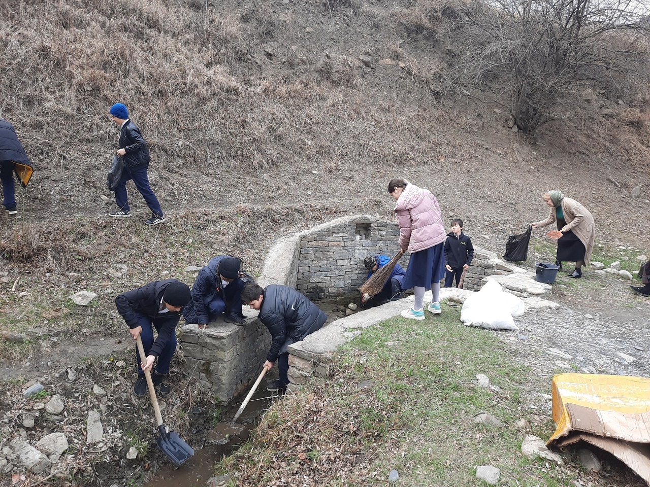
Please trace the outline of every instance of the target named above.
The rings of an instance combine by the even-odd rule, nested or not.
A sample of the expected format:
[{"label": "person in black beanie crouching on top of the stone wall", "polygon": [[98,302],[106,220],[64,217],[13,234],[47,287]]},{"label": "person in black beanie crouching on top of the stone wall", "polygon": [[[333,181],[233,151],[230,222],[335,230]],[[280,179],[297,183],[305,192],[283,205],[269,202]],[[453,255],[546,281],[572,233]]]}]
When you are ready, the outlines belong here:
[{"label": "person in black beanie crouching on top of the stone wall", "polygon": [[205,330],[208,321],[223,314],[226,323],[246,325],[242,313],[244,281],[240,268],[240,260],[228,255],[213,257],[203,266],[194,280],[192,299],[183,310],[188,324],[196,323],[199,329]]}]

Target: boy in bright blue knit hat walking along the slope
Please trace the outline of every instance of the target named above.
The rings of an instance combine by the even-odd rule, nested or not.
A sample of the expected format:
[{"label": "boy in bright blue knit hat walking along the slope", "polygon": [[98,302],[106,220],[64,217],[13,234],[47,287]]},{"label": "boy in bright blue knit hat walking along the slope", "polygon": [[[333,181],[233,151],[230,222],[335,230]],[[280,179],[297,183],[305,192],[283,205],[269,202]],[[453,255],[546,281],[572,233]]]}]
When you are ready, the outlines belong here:
[{"label": "boy in bright blue knit hat walking along the slope", "polygon": [[131,179],[151,210],[151,218],[146,221],[147,225],[162,223],[165,218],[161,205],[149,186],[149,177],[147,176],[147,168],[149,168],[147,143],[144,141],[140,129],[129,119],[129,111],[126,106],[116,103],[110,107],[109,114],[112,121],[120,127],[120,149],[117,151],[117,155],[124,158],[122,178],[115,189],[115,202],[119,209],[109,215],[122,218],[131,216],[126,193],[126,182]]}]

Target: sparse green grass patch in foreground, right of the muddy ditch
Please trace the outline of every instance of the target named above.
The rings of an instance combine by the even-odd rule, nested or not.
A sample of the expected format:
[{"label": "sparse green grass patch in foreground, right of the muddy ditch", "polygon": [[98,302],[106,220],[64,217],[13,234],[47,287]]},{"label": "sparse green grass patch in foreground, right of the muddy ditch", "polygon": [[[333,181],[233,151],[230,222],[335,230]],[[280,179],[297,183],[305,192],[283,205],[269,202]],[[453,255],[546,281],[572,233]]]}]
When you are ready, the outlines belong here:
[{"label": "sparse green grass patch in foreground, right of the muddy ditch", "polygon": [[[521,456],[518,419],[543,438],[554,427],[521,397],[531,387],[548,392],[550,384],[513,360],[495,334],[462,325],[458,308],[443,305],[441,316],[369,327],[339,351],[335,364],[328,381],[276,402],[251,442],[216,473],[229,473],[238,486],[279,479],[374,485],[396,469],[400,486],[469,487],[477,485],[477,465],[499,468],[501,485],[567,485],[577,478]],[[478,373],[499,390],[480,388]],[[482,412],[506,426],[476,425]]]}]

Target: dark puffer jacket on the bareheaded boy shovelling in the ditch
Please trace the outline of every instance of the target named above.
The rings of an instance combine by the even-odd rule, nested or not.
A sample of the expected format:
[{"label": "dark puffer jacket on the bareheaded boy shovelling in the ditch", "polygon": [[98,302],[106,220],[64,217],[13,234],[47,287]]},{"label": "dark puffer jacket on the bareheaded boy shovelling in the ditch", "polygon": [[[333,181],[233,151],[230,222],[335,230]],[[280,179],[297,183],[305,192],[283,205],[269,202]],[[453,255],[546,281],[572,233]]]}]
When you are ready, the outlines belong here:
[{"label": "dark puffer jacket on the bareheaded boy shovelling in the ditch", "polygon": [[288,286],[270,284],[263,296],[258,318],[271,334],[271,349],[266,354],[269,362],[278,360],[291,343],[320,329],[327,319],[318,306]]}]

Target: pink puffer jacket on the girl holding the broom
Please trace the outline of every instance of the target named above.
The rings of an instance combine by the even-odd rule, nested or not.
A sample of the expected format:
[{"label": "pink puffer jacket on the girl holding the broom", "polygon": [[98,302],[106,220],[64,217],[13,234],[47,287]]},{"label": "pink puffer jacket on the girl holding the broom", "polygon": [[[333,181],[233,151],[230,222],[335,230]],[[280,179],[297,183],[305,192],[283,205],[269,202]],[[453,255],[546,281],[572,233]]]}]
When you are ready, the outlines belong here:
[{"label": "pink puffer jacket on the girl holding the broom", "polygon": [[395,204],[400,225],[400,249],[417,252],[445,240],[440,206],[429,190],[410,182]]}]

